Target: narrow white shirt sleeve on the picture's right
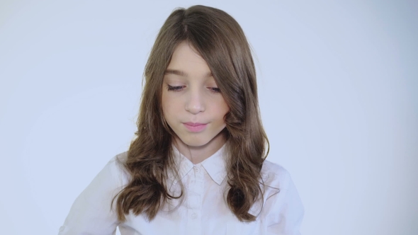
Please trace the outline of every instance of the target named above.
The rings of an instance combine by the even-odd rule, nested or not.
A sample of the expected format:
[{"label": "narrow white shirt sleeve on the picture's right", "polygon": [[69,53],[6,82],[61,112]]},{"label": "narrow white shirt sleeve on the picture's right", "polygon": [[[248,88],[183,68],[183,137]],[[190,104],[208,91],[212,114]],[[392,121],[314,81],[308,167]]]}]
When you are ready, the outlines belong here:
[{"label": "narrow white shirt sleeve on the picture's right", "polygon": [[285,170],[283,178],[279,193],[271,198],[273,201],[267,216],[267,231],[268,234],[300,235],[304,214],[302,200],[288,171]]}]

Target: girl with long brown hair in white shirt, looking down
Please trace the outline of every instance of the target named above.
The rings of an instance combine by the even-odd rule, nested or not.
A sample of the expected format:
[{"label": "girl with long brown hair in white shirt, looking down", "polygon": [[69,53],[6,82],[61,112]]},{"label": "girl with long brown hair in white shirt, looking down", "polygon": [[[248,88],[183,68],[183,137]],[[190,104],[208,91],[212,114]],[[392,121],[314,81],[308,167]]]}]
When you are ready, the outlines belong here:
[{"label": "girl with long brown hair in white shirt, looking down", "polygon": [[247,39],[224,11],[179,8],[145,67],[137,138],[72,205],[69,234],[300,234],[289,173],[265,161]]}]

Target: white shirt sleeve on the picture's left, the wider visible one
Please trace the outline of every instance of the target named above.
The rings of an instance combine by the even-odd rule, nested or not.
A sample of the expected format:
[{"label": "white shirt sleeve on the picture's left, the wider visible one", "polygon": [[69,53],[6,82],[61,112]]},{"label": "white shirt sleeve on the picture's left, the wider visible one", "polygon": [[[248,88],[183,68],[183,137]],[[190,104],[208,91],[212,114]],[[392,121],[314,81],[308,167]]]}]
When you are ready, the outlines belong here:
[{"label": "white shirt sleeve on the picture's left, the wider visible one", "polygon": [[58,235],[115,234],[118,217],[111,202],[122,189],[120,166],[117,156],[106,164],[74,201]]}]

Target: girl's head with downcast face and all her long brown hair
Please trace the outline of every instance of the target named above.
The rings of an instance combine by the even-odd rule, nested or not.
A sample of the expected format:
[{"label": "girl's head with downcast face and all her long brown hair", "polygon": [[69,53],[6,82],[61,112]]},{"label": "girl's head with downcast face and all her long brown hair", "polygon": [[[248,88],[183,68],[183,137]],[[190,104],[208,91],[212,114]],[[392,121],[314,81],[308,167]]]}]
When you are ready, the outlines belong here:
[{"label": "girl's head with downcast face and all her long brown hair", "polygon": [[153,219],[175,198],[166,179],[177,171],[171,148],[181,140],[188,146],[226,142],[227,204],[239,220],[254,220],[249,208],[262,196],[268,140],[254,62],[237,21],[208,6],[176,9],[157,35],[144,74],[137,138],[125,162],[132,179],[117,196],[119,219],[131,211]]}]

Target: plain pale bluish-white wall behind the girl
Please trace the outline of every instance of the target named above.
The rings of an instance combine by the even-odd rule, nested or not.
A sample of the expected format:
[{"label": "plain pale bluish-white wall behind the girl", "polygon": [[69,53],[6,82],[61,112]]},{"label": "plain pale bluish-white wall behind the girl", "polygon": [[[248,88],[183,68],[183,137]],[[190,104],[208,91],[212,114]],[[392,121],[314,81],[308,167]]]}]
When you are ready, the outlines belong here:
[{"label": "plain pale bluish-white wall behind the girl", "polygon": [[269,160],[303,234],[418,234],[417,1],[0,1],[0,227],[57,234],[134,137],[142,69],[177,6],[254,48]]}]

